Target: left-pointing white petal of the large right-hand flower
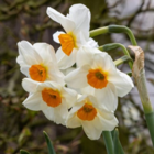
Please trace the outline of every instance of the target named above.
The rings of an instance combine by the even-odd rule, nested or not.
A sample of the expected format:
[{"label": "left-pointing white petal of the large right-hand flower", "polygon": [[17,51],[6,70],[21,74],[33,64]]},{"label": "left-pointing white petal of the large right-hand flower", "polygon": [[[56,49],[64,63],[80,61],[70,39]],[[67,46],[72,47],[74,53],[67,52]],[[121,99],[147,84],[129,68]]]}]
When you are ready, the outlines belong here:
[{"label": "left-pointing white petal of the large right-hand flower", "polygon": [[88,86],[87,82],[87,74],[88,74],[89,66],[84,66],[81,68],[77,68],[73,70],[65,77],[65,81],[72,88],[82,88]]}]

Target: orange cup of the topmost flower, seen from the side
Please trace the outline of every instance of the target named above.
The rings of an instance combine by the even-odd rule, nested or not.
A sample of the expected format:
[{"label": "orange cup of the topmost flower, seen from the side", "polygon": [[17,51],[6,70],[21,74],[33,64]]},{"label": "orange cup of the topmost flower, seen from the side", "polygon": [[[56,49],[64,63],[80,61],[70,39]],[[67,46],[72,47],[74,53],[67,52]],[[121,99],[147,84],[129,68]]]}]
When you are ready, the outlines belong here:
[{"label": "orange cup of the topmost flower, seen from the side", "polygon": [[69,56],[74,50],[74,47],[76,47],[76,38],[73,34],[61,34],[58,36],[61,45],[62,45],[62,50],[63,52]]}]

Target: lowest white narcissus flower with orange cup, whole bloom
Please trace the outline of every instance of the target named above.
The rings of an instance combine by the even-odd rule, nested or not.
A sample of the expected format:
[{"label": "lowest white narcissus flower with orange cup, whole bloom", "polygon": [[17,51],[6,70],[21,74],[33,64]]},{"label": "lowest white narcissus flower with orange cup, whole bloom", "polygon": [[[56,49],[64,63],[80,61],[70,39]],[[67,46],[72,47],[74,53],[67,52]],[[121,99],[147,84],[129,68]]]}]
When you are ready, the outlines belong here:
[{"label": "lowest white narcissus flower with orange cup, whole bloom", "polygon": [[80,97],[68,113],[66,127],[82,127],[91,140],[100,138],[102,131],[112,131],[118,125],[113,112],[100,108],[92,96]]}]

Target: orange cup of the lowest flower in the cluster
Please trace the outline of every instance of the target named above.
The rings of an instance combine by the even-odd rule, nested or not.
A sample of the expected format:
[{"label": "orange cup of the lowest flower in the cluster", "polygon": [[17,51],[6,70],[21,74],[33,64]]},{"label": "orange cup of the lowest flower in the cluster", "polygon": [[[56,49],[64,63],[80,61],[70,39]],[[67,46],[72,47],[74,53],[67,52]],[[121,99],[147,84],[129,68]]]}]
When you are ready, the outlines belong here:
[{"label": "orange cup of the lowest flower in the cluster", "polygon": [[97,110],[92,105],[85,103],[78,111],[77,117],[81,120],[91,121],[97,116]]}]

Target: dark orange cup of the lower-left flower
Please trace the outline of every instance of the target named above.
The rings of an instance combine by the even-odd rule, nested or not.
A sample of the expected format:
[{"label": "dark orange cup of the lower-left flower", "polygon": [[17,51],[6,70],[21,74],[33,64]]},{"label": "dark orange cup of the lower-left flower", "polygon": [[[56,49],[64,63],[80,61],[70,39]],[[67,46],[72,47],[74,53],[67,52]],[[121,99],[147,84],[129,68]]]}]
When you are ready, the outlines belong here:
[{"label": "dark orange cup of the lower-left flower", "polygon": [[62,98],[58,91],[53,89],[44,89],[42,90],[42,98],[50,107],[57,107],[62,103]]}]

